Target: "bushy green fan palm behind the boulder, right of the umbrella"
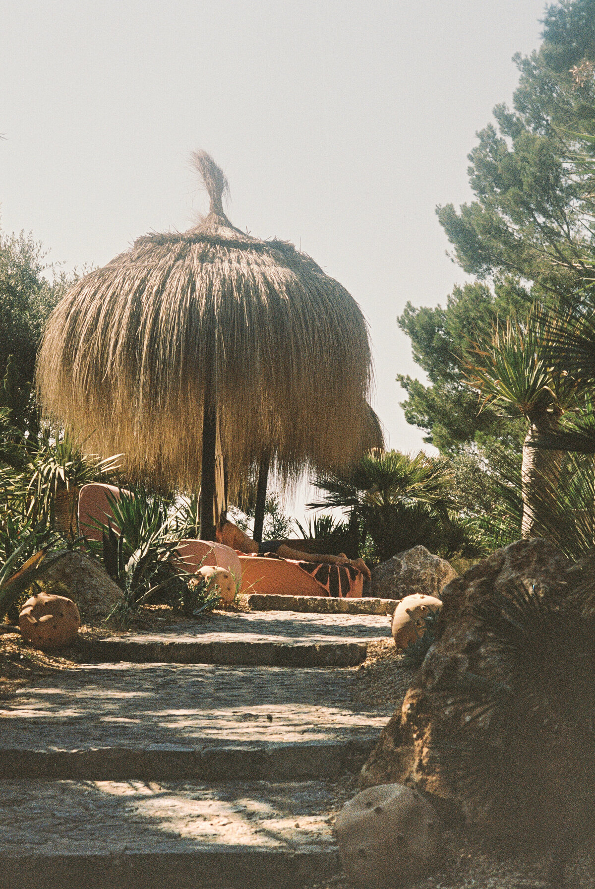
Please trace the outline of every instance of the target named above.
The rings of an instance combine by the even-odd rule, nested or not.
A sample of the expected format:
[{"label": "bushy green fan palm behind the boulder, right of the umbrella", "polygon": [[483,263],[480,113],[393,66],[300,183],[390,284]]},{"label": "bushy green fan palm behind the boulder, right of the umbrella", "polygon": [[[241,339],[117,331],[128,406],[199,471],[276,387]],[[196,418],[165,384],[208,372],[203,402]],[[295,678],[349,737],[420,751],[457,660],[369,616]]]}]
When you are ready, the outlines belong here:
[{"label": "bushy green fan palm behind the boulder, right of the umbrella", "polygon": [[[444,461],[423,452],[374,450],[345,474],[326,473],[314,485],[324,495],[309,509],[340,508],[360,543],[369,536],[380,561],[423,544],[439,549],[452,525],[448,493],[452,473]],[[452,532],[452,527],[450,531]]]}]

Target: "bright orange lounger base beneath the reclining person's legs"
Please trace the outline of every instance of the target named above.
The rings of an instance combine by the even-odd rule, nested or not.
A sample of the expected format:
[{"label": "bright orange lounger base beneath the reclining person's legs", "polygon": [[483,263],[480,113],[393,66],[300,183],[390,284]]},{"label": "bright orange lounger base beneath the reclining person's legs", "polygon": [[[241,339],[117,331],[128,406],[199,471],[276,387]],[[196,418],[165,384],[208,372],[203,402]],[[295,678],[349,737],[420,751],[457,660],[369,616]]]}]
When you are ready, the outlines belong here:
[{"label": "bright orange lounger base beneath the reclining person's legs", "polygon": [[351,565],[314,565],[293,559],[242,556],[242,593],[361,598],[363,574]]}]

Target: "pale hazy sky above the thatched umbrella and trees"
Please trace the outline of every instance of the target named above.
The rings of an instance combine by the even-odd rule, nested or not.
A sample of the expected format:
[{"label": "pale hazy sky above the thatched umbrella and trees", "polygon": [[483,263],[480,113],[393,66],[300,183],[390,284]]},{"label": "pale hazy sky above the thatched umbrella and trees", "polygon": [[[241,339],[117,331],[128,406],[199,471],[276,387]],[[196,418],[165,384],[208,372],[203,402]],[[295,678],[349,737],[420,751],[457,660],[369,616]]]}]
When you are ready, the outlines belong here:
[{"label": "pale hazy sky above the thatched umbrella and trees", "polygon": [[396,324],[463,272],[436,204],[469,199],[466,155],[543,0],[0,0],[0,225],[65,268],[103,265],[206,209],[188,157],[229,180],[238,228],[290,240],[369,321],[389,444],[417,449]]}]

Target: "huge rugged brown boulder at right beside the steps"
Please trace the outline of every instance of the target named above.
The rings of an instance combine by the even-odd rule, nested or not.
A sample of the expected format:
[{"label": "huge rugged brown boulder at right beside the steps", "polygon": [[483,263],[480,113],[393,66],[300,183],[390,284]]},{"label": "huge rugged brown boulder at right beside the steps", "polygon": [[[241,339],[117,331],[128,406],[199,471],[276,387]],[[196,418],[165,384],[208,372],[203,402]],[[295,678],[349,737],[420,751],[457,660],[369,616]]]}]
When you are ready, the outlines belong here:
[{"label": "huge rugged brown boulder at right beside the steps", "polygon": [[[535,693],[531,677],[527,673],[519,676],[518,665],[528,663],[530,673],[535,662],[536,669],[545,676],[545,683],[559,683],[552,693],[561,689],[561,701],[566,700],[564,683],[572,681],[572,675],[581,673],[583,682],[584,671],[591,669],[592,672],[589,654],[591,660],[579,660],[575,665],[568,661],[568,678],[559,675],[565,669],[566,652],[571,656],[573,653],[573,628],[578,628],[580,621],[593,620],[589,608],[585,607],[585,603],[592,603],[593,593],[586,596],[584,593],[585,582],[592,588],[592,567],[572,565],[550,543],[533,539],[497,550],[462,577],[451,581],[442,590],[437,641],[364,765],[361,786],[407,782],[439,797],[452,798],[458,794],[470,820],[482,822],[509,837],[526,835],[531,825],[536,832],[541,831],[541,835],[555,830],[556,821],[567,817],[566,810],[562,813],[560,806],[575,805],[576,793],[582,792],[581,784],[591,781],[585,774],[585,768],[592,772],[591,765],[580,765],[581,756],[586,755],[588,764],[591,757],[588,750],[578,749],[583,741],[578,738],[575,725],[567,731],[559,730],[556,725],[559,720],[552,719],[551,713],[548,715],[551,701],[543,700],[543,685],[538,686]],[[506,637],[505,629],[504,636],[500,637],[497,632],[486,630],[492,626],[497,629],[502,609],[507,607],[505,603],[514,601],[515,589],[521,600],[523,594],[518,594],[519,589],[527,591],[529,602],[537,603],[536,622],[541,620],[540,603],[550,615],[542,628],[537,628],[541,632],[538,651],[531,651],[532,640],[537,637],[532,635],[530,621],[525,629],[520,629],[524,633],[520,643],[519,637],[517,641],[512,636]],[[494,624],[486,617],[489,615],[486,609],[494,608],[490,603],[496,603]],[[569,628],[565,630],[566,637],[562,634],[548,637],[548,628],[555,634],[556,621],[564,620]],[[583,637],[588,640],[589,627],[585,626],[587,632]],[[512,634],[517,629],[508,625]],[[523,655],[524,660],[520,660],[519,651],[523,650],[527,657]],[[541,661],[537,662],[536,658]],[[584,685],[587,697],[594,681],[591,676]],[[465,689],[471,691],[466,693]],[[574,693],[572,686],[571,691]],[[548,694],[546,692],[545,698]],[[498,695],[501,695],[499,699]],[[472,711],[470,700],[487,703],[483,709],[478,706]],[[567,701],[572,702],[572,694]],[[562,709],[565,706],[563,704]],[[510,719],[506,723],[509,707],[518,707],[517,712],[527,714],[527,721],[519,732],[512,725],[511,733]],[[551,741],[544,741],[546,736]],[[511,739],[522,742],[511,743]],[[481,773],[480,779],[483,798],[479,792],[473,803],[470,802],[472,795],[461,792],[465,778],[470,781],[473,778],[472,762],[479,761],[472,757],[484,756],[480,751],[486,751],[484,759],[488,770],[493,766],[494,787],[498,781],[502,786],[503,776],[508,782],[505,792],[501,793],[499,809],[486,802],[492,792],[484,780],[486,772]],[[452,763],[455,755],[459,757],[458,775],[453,783],[453,772],[449,772],[445,764]],[[567,780],[575,781],[572,789],[564,784]],[[538,792],[528,792],[529,787],[538,788]],[[544,820],[548,819],[551,825],[548,821],[549,826],[544,827]]]}]

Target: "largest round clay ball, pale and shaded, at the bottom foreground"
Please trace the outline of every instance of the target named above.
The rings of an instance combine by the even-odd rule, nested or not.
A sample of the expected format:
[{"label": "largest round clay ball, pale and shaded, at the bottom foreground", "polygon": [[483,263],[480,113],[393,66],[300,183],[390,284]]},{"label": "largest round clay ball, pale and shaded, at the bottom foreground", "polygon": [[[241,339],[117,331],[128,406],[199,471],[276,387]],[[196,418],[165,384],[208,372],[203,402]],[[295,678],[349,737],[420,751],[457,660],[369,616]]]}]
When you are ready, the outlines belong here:
[{"label": "largest round clay ball, pale and shaded, at the bottom foreground", "polygon": [[393,889],[424,877],[439,852],[433,806],[403,784],[362,790],[335,826],[343,869],[360,889]]}]

